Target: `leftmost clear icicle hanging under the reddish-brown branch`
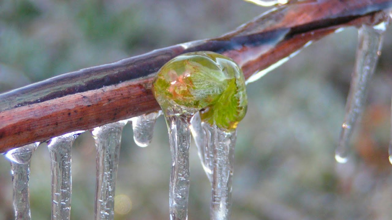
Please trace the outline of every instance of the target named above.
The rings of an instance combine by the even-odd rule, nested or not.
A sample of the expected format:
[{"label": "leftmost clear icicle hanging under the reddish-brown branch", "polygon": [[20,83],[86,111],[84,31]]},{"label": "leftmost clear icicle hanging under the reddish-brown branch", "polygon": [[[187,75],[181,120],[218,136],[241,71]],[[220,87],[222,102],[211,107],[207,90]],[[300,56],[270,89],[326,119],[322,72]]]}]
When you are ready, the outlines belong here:
[{"label": "leftmost clear icicle hanging under the reddish-brown branch", "polygon": [[11,161],[15,220],[31,219],[29,202],[30,160],[39,144],[39,142],[27,144],[5,153],[5,157]]}]

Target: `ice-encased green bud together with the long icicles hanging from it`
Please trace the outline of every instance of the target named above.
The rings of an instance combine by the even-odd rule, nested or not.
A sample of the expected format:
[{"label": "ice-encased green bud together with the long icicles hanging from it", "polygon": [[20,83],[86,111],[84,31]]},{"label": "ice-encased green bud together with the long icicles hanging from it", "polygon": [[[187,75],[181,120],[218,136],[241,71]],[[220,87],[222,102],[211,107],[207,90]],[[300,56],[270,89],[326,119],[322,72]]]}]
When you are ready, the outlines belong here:
[{"label": "ice-encased green bud together with the long icicles hanging from it", "polygon": [[153,87],[171,144],[171,219],[187,219],[190,127],[212,183],[211,219],[229,219],[235,133],[247,108],[240,68],[214,52],[182,54],[163,65]]}]

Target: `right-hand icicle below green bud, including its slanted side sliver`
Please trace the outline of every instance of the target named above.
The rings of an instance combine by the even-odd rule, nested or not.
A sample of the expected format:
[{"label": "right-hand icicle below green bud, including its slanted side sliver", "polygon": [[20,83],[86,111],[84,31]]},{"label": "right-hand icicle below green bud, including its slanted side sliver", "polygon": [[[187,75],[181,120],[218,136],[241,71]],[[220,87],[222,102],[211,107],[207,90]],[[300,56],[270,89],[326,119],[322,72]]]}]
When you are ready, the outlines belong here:
[{"label": "right-hand icicle below green bud, including its slanted side sliver", "polygon": [[212,185],[211,220],[227,220],[231,213],[232,176],[236,130],[224,131],[216,125],[192,119],[192,136],[198,148],[201,164]]}]

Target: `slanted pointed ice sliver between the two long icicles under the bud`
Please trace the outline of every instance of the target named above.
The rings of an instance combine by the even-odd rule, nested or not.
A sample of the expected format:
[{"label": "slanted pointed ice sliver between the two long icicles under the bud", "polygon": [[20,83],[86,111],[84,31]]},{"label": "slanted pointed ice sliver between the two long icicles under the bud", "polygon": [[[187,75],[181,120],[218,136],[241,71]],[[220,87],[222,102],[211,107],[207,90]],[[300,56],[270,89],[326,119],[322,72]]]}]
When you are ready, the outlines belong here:
[{"label": "slanted pointed ice sliver between the two long icicles under the bud", "polygon": [[191,123],[191,132],[198,148],[198,155],[203,169],[212,183],[212,160],[214,159],[214,149],[212,148],[212,132],[209,124],[201,122],[199,112],[194,115]]}]

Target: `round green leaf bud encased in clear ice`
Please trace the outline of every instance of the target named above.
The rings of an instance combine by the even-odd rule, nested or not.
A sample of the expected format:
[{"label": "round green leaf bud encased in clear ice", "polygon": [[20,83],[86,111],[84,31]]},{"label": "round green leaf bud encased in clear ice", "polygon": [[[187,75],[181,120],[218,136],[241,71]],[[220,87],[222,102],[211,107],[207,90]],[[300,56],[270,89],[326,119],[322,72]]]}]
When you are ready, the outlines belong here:
[{"label": "round green leaf bud encased in clear ice", "polygon": [[230,58],[202,51],[181,54],[158,71],[154,96],[167,115],[195,114],[232,130],[247,110],[245,78]]}]

